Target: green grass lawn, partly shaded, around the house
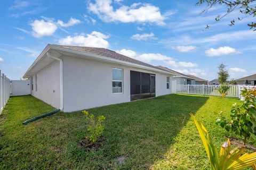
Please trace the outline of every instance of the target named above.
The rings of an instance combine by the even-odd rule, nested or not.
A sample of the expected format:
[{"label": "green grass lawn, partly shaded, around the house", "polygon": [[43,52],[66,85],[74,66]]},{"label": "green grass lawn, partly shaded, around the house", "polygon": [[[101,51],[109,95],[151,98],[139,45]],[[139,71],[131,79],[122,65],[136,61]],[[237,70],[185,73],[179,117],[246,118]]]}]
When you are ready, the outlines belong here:
[{"label": "green grass lawn, partly shaded, around the house", "polygon": [[215,125],[215,118],[220,111],[229,115],[235,102],[240,101],[166,95],[89,109],[95,116],[106,116],[106,141],[87,151],[78,146],[86,136],[81,112],[61,112],[22,125],[53,108],[32,96],[12,97],[0,116],[0,169],[209,169],[189,112],[220,147],[226,132]]}]

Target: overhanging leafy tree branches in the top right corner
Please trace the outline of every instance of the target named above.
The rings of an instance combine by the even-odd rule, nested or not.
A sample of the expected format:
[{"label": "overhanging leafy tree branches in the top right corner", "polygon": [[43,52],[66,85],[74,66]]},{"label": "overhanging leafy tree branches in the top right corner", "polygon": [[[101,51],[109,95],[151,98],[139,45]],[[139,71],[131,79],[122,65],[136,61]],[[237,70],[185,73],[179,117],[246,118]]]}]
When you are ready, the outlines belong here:
[{"label": "overhanging leafy tree branches in the top right corner", "polygon": [[[233,1],[227,1],[227,0],[199,0],[196,5],[202,5],[202,4],[207,4],[207,8],[202,11],[202,13],[206,13],[209,8],[215,6],[215,5],[221,5],[225,6],[227,8],[227,12],[223,15],[218,15],[215,20],[220,21],[222,18],[224,18],[226,15],[229,13],[239,10],[239,12],[244,15],[243,18],[247,16],[256,16],[256,5],[255,5],[256,0],[233,0]],[[230,21],[229,25],[232,26],[235,24],[236,21],[242,20],[243,18],[234,18],[233,20]],[[247,24],[250,29],[254,29],[253,31],[256,30],[256,23],[251,22]],[[206,25],[205,29],[209,29],[209,25]]]}]

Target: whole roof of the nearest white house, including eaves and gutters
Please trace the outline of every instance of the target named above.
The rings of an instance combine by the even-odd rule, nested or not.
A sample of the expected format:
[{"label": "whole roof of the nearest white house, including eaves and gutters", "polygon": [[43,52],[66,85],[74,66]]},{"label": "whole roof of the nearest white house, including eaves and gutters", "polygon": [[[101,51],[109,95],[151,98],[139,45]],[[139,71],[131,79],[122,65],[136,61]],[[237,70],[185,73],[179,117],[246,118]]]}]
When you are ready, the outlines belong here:
[{"label": "whole roof of the nearest white house, including eaves and gutters", "polygon": [[93,60],[100,60],[103,62],[110,62],[110,63],[118,63],[133,67],[138,67],[141,69],[161,72],[165,74],[175,75],[173,73],[167,72],[159,67],[154,65],[150,65],[147,63],[143,63],[141,61],[135,60],[133,58],[124,56],[122,54],[116,53],[112,50],[105,49],[105,48],[95,48],[95,47],[79,47],[79,46],[61,46],[61,45],[51,45],[48,44],[43,52],[36,58],[34,63],[29,67],[27,72],[23,75],[23,78],[29,78],[31,75],[34,75],[36,72],[41,70],[44,66],[53,62],[53,59],[47,57],[47,53],[56,53],[59,55],[67,56],[75,56],[75,57],[82,57],[82,58],[91,58]]}]

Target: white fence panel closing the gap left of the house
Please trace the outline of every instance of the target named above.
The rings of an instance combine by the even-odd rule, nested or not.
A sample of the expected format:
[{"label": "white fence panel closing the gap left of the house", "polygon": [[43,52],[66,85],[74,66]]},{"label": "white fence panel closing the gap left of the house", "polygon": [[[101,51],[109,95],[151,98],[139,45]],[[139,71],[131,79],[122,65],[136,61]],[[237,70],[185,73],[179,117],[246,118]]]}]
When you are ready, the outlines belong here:
[{"label": "white fence panel closing the gap left of the house", "polygon": [[30,94],[29,80],[12,80],[11,96],[23,96]]}]

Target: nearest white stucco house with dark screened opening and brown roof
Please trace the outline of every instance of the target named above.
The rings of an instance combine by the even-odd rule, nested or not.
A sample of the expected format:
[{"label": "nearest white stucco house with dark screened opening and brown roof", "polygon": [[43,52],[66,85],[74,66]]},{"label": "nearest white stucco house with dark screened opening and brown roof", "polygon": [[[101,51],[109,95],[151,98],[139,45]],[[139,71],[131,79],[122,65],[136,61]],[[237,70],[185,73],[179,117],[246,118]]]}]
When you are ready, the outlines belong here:
[{"label": "nearest white stucco house with dark screened opening and brown roof", "polygon": [[23,78],[64,112],[171,94],[174,73],[94,47],[47,45]]}]

